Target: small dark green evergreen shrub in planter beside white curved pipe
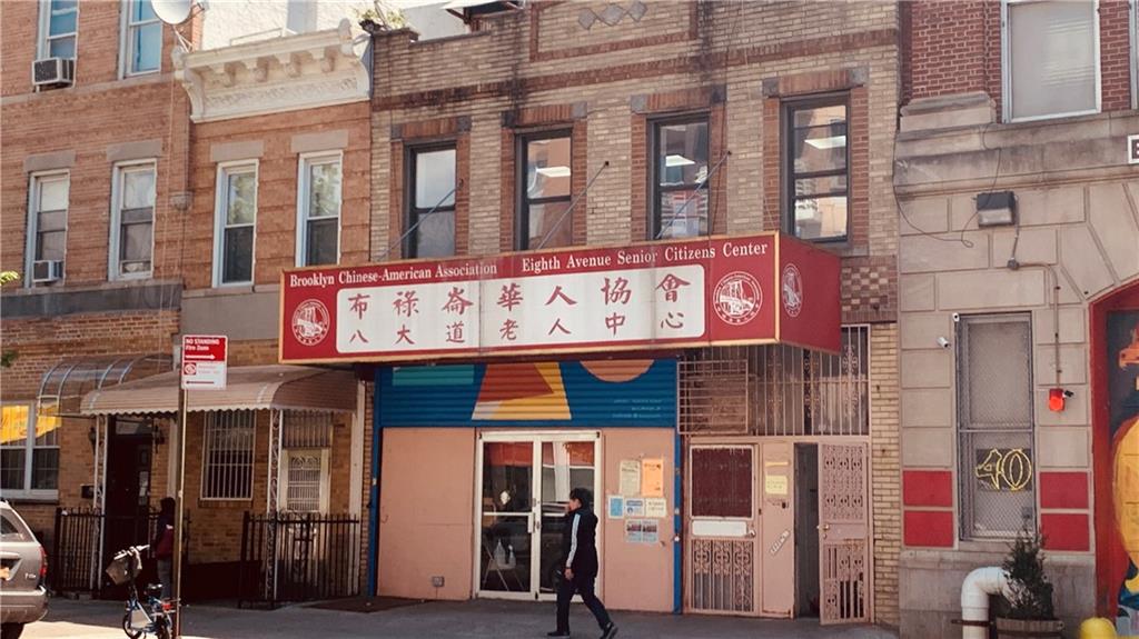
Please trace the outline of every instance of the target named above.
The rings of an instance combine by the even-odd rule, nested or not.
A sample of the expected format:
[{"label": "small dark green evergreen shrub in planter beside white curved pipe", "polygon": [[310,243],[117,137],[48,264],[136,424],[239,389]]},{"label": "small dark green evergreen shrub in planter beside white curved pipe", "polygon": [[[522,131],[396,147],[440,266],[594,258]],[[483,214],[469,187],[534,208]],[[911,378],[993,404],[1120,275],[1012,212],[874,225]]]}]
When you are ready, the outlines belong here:
[{"label": "small dark green evergreen shrub in planter beside white curved pipe", "polygon": [[1009,546],[1002,564],[1008,589],[997,613],[998,639],[1058,639],[1064,630],[1052,606],[1042,545],[1040,533],[1022,531]]}]

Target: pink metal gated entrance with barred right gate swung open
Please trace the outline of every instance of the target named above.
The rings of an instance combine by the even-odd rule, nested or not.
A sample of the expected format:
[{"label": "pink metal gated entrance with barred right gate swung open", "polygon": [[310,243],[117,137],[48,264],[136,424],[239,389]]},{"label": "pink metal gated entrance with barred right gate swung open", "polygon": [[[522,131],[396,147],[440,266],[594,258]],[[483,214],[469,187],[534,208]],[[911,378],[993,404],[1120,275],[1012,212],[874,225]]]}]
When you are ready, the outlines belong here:
[{"label": "pink metal gated entrance with barred right gate swung open", "polygon": [[687,609],[869,620],[866,443],[694,438],[687,453]]}]

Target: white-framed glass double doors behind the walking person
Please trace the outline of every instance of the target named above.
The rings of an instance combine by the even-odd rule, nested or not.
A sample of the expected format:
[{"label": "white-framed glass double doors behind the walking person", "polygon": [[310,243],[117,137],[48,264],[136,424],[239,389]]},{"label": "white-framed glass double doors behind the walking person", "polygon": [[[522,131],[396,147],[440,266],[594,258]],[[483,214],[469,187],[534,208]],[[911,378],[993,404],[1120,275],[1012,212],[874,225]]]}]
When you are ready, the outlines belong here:
[{"label": "white-framed glass double doors behind the walking person", "polygon": [[554,598],[570,490],[588,488],[596,499],[599,455],[597,432],[480,435],[475,465],[480,597]]}]

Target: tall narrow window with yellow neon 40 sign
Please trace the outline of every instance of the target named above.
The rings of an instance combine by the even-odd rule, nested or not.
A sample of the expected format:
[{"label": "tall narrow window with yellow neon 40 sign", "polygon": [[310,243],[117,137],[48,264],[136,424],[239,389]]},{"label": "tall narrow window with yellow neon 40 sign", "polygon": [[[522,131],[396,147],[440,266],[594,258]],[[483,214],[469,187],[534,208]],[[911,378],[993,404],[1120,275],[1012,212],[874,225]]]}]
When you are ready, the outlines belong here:
[{"label": "tall narrow window with yellow neon 40 sign", "polygon": [[1032,324],[1027,314],[958,324],[958,458],[962,539],[1035,523]]}]

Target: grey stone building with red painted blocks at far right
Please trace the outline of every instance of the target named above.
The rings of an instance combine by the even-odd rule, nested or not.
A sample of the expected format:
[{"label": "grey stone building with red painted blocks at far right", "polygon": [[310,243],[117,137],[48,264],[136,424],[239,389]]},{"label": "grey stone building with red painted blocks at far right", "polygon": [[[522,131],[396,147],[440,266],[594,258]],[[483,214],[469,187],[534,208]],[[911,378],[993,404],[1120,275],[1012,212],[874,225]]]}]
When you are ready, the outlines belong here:
[{"label": "grey stone building with red painted blocks at far right", "polygon": [[957,636],[965,575],[1000,565],[1024,529],[1044,536],[1070,629],[1092,613],[1121,636],[1139,629],[1124,583],[1137,548],[1124,497],[1137,450],[1133,11],[903,6],[903,636]]}]

